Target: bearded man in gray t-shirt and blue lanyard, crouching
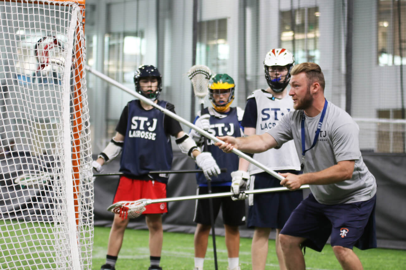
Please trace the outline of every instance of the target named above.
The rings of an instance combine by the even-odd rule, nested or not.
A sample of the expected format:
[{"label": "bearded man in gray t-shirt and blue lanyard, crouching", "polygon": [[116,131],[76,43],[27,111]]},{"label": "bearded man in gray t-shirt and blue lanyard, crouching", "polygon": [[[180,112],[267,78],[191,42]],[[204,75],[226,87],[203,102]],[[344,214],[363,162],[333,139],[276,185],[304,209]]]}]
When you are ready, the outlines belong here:
[{"label": "bearded man in gray t-shirt and blue lanyard, crouching", "polygon": [[358,125],[350,115],[324,98],[324,75],[315,63],[301,63],[292,71],[289,95],[294,108],[278,125],[262,135],[219,137],[216,143],[260,153],[293,140],[303,174],[281,174],[281,185],[296,190],[309,184],[311,194],[285,223],[279,241],[287,269],[305,269],[300,247],[322,251],[329,237],[343,269],[362,269],[352,247],[376,247],[376,181],[361,157]]}]

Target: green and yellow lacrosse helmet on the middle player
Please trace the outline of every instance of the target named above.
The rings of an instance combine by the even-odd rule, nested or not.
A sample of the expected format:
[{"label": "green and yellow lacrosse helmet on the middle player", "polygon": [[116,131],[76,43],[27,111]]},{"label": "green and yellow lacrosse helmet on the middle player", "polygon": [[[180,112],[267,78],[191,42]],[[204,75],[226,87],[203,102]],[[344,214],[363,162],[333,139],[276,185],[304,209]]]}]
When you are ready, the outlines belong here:
[{"label": "green and yellow lacrosse helmet on the middle player", "polygon": [[[214,99],[213,95],[214,94],[219,94],[220,90],[222,89],[229,89],[229,97],[227,101],[218,101]],[[209,81],[209,100],[212,102],[214,109],[218,112],[224,112],[226,111],[229,106],[231,105],[231,102],[234,100],[234,89],[235,89],[235,83],[233,78],[231,78],[228,74],[216,74],[214,77],[212,77]],[[224,91],[222,91],[224,94]],[[227,94],[227,93],[226,93]]]}]

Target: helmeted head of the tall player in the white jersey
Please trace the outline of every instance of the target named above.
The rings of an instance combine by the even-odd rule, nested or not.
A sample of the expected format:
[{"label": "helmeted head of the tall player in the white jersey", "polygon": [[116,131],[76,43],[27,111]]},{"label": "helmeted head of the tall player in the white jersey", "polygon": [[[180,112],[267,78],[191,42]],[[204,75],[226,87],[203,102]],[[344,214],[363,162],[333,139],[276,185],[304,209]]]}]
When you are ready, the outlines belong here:
[{"label": "helmeted head of the tall player in the white jersey", "polygon": [[[295,63],[295,58],[287,49],[270,50],[263,61],[265,79],[269,87],[276,93],[282,92],[290,81],[290,71]],[[284,72],[270,72],[281,71]],[[286,72],[287,70],[287,72]]]}]

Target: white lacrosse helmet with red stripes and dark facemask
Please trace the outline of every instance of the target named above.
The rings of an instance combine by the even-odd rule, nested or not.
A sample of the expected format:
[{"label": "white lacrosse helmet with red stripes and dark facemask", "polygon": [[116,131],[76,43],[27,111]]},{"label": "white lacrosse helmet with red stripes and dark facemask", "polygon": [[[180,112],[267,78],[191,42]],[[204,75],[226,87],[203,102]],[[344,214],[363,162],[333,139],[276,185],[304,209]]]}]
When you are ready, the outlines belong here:
[{"label": "white lacrosse helmet with red stripes and dark facemask", "polygon": [[[292,70],[295,63],[295,57],[287,49],[272,49],[268,51],[265,55],[265,60],[263,61],[263,66],[265,69],[265,79],[269,87],[276,92],[282,92],[283,89],[289,84],[290,81],[290,70]],[[286,66],[287,75],[283,81],[280,78],[271,78],[268,72],[270,66]]]}]

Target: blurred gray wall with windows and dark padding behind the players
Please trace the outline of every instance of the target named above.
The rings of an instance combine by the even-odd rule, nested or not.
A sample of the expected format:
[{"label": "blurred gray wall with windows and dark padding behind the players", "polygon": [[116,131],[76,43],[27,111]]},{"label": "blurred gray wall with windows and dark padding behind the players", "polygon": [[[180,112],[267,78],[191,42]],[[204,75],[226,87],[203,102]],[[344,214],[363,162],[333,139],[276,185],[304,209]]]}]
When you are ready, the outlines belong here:
[{"label": "blurred gray wall with windows and dark padding behind the players", "polygon": [[[404,0],[86,0],[88,64],[131,89],[139,65],[157,66],[164,83],[160,98],[175,104],[177,114],[188,121],[199,110],[186,75],[193,64],[231,75],[236,82],[233,106],[242,108],[253,90],[268,87],[263,60],[270,49],[288,49],[296,64],[319,64],[327,100],[360,126],[360,147],[379,185],[381,247],[406,247],[404,237],[395,240],[400,227],[385,229],[406,223],[404,210],[391,210],[402,204],[406,191],[405,30]],[[92,74],[86,78],[96,154],[114,135],[121,110],[133,97]],[[207,99],[205,105],[210,106]],[[174,168],[187,167],[190,161],[184,159],[177,157]],[[193,177],[172,176],[178,180],[171,180],[168,196],[193,194]],[[111,191],[111,183],[99,183],[96,197]],[[171,208],[166,226],[193,226],[191,220],[179,220],[188,211],[180,205]],[[103,207],[96,219],[109,223]],[[189,210],[192,215],[192,206]]]}]

